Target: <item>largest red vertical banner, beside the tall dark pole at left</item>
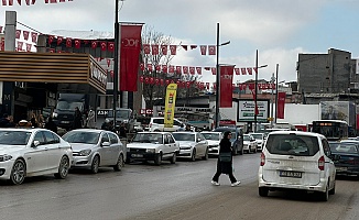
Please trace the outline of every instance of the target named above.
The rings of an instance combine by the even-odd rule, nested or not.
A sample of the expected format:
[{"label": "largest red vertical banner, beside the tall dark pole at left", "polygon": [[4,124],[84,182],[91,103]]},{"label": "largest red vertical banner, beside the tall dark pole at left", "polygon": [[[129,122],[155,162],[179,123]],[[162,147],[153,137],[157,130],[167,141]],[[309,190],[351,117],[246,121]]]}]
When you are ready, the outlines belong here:
[{"label": "largest red vertical banner, beside the tall dark pole at left", "polygon": [[121,25],[120,90],[137,91],[142,25]]}]

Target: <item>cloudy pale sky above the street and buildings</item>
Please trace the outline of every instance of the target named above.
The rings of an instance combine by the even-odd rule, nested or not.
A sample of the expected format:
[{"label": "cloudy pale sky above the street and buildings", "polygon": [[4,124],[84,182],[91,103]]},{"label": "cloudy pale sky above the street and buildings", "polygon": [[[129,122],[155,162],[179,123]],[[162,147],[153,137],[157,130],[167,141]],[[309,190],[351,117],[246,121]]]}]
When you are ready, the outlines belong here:
[{"label": "cloudy pale sky above the street and buildings", "polygon": [[[14,0],[15,1],[15,0]],[[18,21],[42,33],[54,30],[113,32],[115,0],[74,0],[34,6],[14,2],[1,6],[4,12],[17,11]],[[359,56],[358,0],[126,0],[120,2],[119,21],[140,22],[156,32],[170,35],[175,43],[215,45],[220,23],[219,63],[236,67],[254,67],[259,51],[259,79],[270,79],[279,68],[279,80],[296,80],[298,53],[327,54],[329,48],[348,51]],[[18,24],[20,30],[29,30]],[[66,37],[66,36],[64,36]],[[216,56],[202,56],[199,48],[180,51],[173,65],[215,67]],[[235,76],[233,82],[254,79]],[[210,72],[203,81],[215,81]]]}]

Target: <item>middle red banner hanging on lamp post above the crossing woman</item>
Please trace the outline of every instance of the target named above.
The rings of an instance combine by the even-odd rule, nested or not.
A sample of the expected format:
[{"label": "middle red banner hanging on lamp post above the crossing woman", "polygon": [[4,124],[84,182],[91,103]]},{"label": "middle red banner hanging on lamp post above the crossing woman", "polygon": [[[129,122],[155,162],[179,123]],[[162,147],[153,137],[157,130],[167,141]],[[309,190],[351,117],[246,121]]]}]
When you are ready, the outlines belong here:
[{"label": "middle red banner hanging on lamp post above the crossing woman", "polygon": [[232,78],[235,66],[220,66],[220,108],[232,107]]}]

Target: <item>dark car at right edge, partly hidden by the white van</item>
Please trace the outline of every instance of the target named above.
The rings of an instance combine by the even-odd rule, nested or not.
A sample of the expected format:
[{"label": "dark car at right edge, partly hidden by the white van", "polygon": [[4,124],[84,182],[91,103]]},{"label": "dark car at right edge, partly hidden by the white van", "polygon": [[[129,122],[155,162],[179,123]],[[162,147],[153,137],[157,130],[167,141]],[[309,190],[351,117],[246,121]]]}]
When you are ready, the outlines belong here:
[{"label": "dark car at right edge, partly hidden by the white van", "polygon": [[359,176],[359,141],[346,140],[339,144],[329,144],[335,155],[337,175]]}]

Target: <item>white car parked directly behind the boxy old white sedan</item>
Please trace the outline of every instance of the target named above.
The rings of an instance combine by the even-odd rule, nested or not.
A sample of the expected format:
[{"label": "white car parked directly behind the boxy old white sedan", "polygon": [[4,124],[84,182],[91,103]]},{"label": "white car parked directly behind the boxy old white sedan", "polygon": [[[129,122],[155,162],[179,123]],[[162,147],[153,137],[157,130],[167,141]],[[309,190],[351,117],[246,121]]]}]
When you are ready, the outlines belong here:
[{"label": "white car parked directly behind the boxy old white sedan", "polygon": [[200,132],[178,131],[172,133],[174,139],[180,143],[178,157],[191,158],[208,158],[208,141]]}]

